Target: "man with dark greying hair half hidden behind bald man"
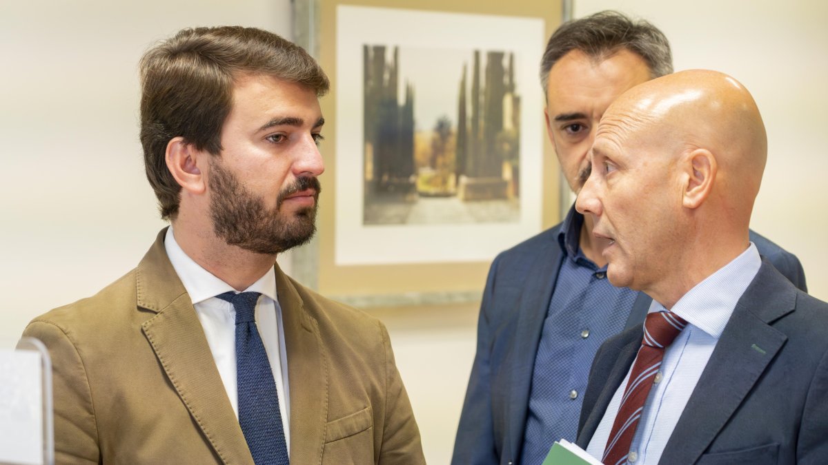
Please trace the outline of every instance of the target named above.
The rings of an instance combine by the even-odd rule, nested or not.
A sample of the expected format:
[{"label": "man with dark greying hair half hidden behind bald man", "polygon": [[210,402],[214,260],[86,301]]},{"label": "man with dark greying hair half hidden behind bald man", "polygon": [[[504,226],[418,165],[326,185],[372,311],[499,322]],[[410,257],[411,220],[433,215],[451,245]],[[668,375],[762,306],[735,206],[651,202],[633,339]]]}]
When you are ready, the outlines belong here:
[{"label": "man with dark greying hair half hidden behind bald man", "polygon": [[[617,12],[568,22],[541,63],[546,129],[578,192],[604,110],[621,93],[672,73],[667,37]],[[796,256],[751,233],[789,280],[806,289]],[[606,280],[607,241],[570,209],[563,223],[493,261],[480,307],[477,353],[453,463],[541,463],[557,439],[575,441],[590,364],[606,338],[638,326],[651,299]]]}]

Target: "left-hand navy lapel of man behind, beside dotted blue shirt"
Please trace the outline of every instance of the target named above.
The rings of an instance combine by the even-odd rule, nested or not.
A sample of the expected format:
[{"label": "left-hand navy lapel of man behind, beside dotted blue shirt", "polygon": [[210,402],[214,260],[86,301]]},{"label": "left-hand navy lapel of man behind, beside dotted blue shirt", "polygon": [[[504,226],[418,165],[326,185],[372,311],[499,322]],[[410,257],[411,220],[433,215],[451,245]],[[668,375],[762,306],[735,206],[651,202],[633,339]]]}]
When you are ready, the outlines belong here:
[{"label": "left-hand navy lapel of man behind, beside dotted blue shirt", "polygon": [[516,340],[512,352],[504,360],[510,367],[507,378],[508,403],[505,405],[508,443],[506,456],[517,457],[526,426],[529,393],[532,386],[532,371],[535,367],[537,347],[541,341],[543,321],[561,270],[561,247],[557,242],[557,231],[553,230],[551,241],[537,253],[528,271],[525,288],[515,328]]}]

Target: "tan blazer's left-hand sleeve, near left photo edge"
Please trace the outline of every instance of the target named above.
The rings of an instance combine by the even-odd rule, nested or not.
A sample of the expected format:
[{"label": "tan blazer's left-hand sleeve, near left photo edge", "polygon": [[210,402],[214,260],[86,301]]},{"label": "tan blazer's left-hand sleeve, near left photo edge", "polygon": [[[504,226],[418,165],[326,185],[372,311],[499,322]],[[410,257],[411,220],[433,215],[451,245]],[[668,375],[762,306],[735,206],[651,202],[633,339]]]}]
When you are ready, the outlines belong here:
[{"label": "tan blazer's left-hand sleeve, near left photo edge", "polygon": [[49,349],[55,413],[55,463],[99,463],[98,431],[84,361],[63,328],[30,323],[23,336]]}]

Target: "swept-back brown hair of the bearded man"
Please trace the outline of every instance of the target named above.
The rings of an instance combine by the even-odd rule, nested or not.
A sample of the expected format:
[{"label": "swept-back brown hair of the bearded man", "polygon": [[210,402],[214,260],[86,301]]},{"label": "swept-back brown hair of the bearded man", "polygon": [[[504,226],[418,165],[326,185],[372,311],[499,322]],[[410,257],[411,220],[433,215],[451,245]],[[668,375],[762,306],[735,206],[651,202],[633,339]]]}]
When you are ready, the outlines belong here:
[{"label": "swept-back brown hair of the bearded man", "polygon": [[219,155],[234,78],[272,75],[320,97],[329,87],[325,72],[300,46],[253,27],[184,29],[148,50],[140,70],[144,165],[165,219],[176,218],[181,193],[166,167],[166,146],[181,136],[197,150]]}]

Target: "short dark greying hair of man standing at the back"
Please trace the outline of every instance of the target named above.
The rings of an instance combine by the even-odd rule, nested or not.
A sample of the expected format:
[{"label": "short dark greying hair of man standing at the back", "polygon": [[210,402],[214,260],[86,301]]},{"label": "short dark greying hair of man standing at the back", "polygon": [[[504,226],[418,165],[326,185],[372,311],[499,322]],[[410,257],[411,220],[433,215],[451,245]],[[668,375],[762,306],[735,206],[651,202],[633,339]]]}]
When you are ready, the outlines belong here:
[{"label": "short dark greying hair of man standing at the back", "polygon": [[598,12],[566,22],[549,38],[541,60],[543,93],[546,94],[552,66],[571,50],[580,50],[592,59],[604,60],[622,49],[641,56],[650,69],[652,79],[672,73],[670,42],[656,26],[644,20],[633,22],[619,12]]}]

